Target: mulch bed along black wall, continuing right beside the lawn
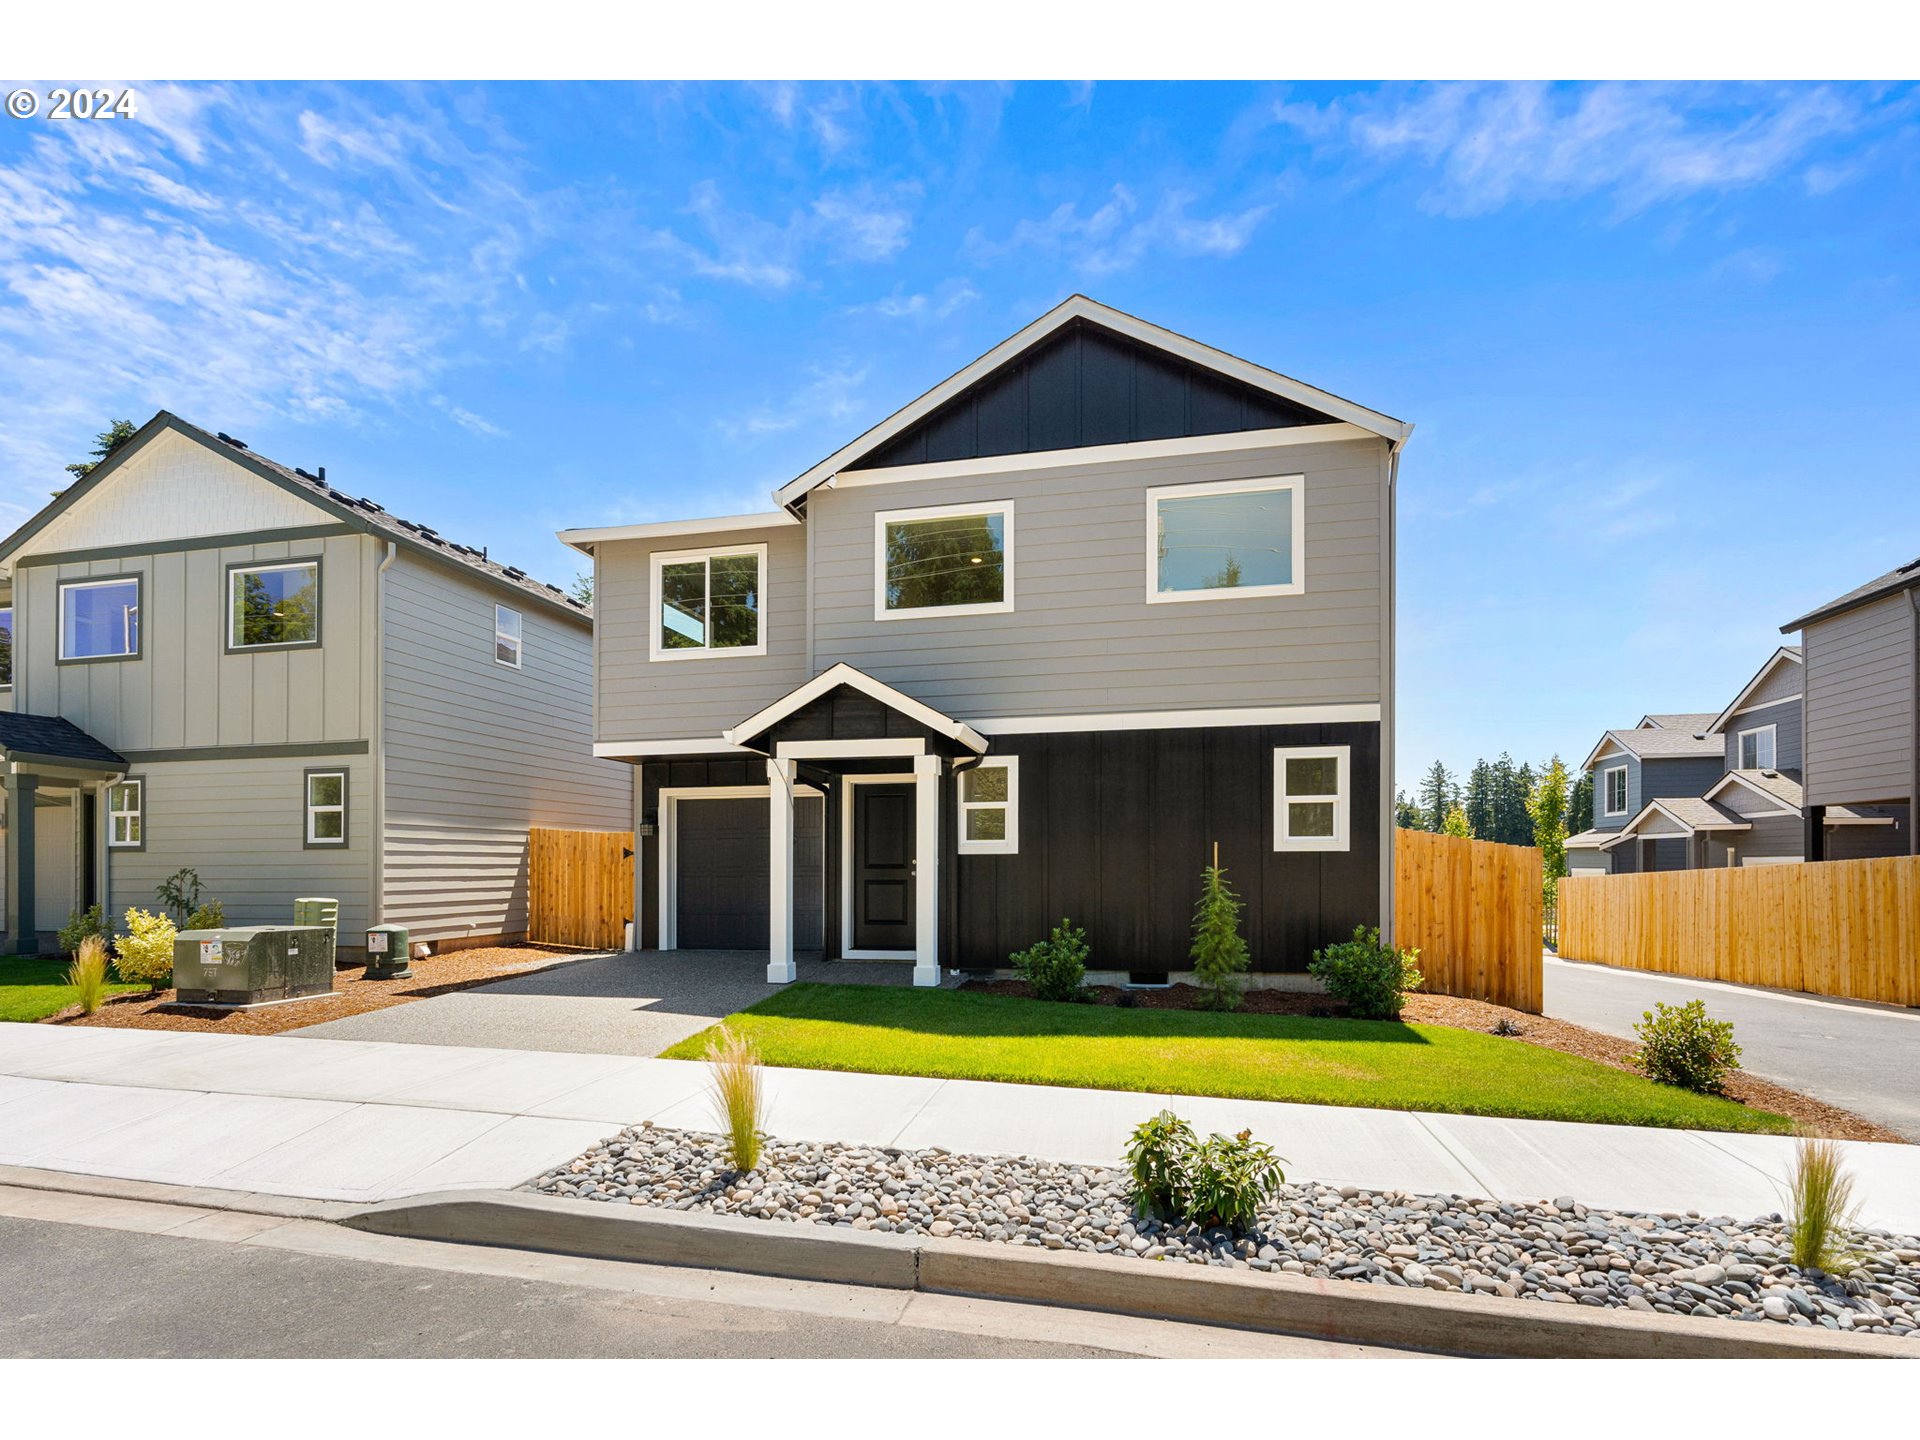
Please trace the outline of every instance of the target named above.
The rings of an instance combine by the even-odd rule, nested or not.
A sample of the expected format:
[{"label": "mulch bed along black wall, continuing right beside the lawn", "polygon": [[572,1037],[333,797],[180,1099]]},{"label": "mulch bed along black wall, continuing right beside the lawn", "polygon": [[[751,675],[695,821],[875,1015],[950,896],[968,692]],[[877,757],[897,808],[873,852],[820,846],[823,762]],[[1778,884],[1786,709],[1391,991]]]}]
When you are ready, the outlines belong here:
[{"label": "mulch bed along black wall, continuing right beside the lawn", "polygon": [[[1033,996],[1033,989],[1023,979],[977,979],[968,981],[962,989],[981,995]],[[1091,987],[1091,995],[1094,1004],[1131,1004],[1140,1010],[1200,1008],[1200,991],[1192,985],[1173,985],[1164,991],[1129,991],[1117,985],[1094,985]],[[1315,991],[1250,989],[1240,996],[1238,1014],[1344,1018],[1348,1010],[1344,1000],[1334,1000],[1331,995]],[[1584,1025],[1571,1025],[1565,1020],[1549,1020],[1548,1016],[1530,1016],[1524,1010],[1488,1004],[1486,1000],[1461,1000],[1452,995],[1413,995],[1407,996],[1407,1006],[1400,1012],[1400,1018],[1411,1025],[1452,1025],[1453,1029],[1476,1029],[1488,1035],[1498,1033],[1496,1027],[1501,1023],[1517,1025],[1519,1033],[1513,1039],[1521,1044],[1563,1050],[1582,1060],[1611,1066],[1613,1069],[1640,1073],[1626,1058],[1636,1048],[1632,1041],[1624,1041],[1619,1035],[1603,1035]],[[1837,1140],[1907,1144],[1903,1135],[1862,1119],[1851,1110],[1830,1106],[1824,1100],[1814,1100],[1811,1094],[1789,1091],[1784,1085],[1774,1085],[1743,1069],[1736,1069],[1728,1077],[1726,1098],[1753,1106],[1755,1110],[1772,1110],[1776,1116],[1788,1116],[1814,1135],[1830,1135]]]}]

